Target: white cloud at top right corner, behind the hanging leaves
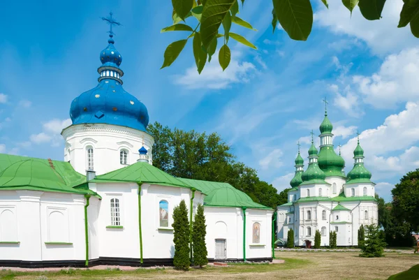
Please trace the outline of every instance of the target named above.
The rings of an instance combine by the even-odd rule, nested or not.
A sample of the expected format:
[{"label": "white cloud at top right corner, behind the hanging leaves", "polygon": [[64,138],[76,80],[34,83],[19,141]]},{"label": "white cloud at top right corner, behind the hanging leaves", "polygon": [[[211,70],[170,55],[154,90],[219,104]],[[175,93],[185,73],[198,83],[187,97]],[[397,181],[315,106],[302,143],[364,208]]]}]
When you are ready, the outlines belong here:
[{"label": "white cloud at top right corner, behind the hanging leaves", "polygon": [[402,50],[417,44],[410,28],[397,28],[403,1],[387,1],[381,20],[369,21],[362,17],[358,7],[352,16],[341,1],[329,1],[329,9],[321,8],[315,20],[337,34],[347,34],[364,40],[376,54]]}]

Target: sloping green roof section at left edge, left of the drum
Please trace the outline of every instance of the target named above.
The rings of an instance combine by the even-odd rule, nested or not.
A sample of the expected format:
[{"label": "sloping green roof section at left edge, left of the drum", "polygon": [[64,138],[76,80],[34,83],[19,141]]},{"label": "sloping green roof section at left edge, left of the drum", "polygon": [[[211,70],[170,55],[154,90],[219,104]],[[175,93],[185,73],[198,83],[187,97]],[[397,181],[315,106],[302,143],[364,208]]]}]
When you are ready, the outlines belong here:
[{"label": "sloping green roof section at left edge, left of the drum", "polygon": [[0,154],[0,190],[57,191],[64,193],[97,193],[73,187],[86,182],[70,163]]}]

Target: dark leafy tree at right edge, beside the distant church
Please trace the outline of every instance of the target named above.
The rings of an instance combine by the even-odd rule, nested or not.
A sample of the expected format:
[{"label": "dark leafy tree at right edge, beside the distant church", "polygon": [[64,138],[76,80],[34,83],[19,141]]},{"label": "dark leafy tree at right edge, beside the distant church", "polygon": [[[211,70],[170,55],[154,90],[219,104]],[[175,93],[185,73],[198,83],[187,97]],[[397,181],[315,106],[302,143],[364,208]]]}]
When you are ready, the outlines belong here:
[{"label": "dark leafy tree at right edge, beside the distant church", "polygon": [[419,168],[402,177],[391,193],[394,216],[409,223],[411,231],[419,231]]}]

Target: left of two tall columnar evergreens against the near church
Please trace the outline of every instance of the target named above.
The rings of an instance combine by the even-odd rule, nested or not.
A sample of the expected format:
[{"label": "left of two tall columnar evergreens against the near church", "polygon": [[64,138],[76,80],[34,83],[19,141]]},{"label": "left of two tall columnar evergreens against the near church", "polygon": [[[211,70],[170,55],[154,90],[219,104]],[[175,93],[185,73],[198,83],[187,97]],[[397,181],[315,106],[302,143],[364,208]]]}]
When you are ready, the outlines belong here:
[{"label": "left of two tall columnar evergreens against the near church", "polygon": [[175,243],[173,265],[178,270],[188,270],[191,265],[191,260],[189,260],[189,219],[184,200],[173,209],[172,227],[173,242]]}]

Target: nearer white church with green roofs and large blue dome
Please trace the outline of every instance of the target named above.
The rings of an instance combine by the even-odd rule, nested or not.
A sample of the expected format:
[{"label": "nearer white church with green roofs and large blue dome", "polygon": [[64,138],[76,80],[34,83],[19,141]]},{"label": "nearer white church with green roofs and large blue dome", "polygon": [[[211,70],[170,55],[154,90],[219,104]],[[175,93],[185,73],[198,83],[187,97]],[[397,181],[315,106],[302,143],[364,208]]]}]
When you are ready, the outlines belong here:
[{"label": "nearer white church with green roofs and large blue dome", "polygon": [[212,260],[271,260],[274,209],[152,165],[147,108],[122,87],[112,31],[98,84],[71,103],[64,161],[0,154],[0,266],[172,265],[172,213],[205,207]]}]

